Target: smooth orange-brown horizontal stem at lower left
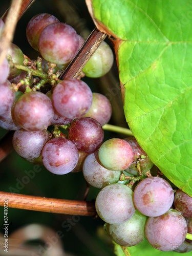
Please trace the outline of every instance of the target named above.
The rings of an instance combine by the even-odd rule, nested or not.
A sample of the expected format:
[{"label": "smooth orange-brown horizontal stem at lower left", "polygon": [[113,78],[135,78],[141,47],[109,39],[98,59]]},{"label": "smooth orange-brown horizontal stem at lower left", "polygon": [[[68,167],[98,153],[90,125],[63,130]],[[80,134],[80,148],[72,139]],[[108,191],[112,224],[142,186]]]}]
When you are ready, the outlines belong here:
[{"label": "smooth orange-brown horizontal stem at lower left", "polygon": [[8,200],[10,208],[89,217],[97,215],[94,202],[36,197],[0,191],[0,206],[4,206],[5,200]]}]

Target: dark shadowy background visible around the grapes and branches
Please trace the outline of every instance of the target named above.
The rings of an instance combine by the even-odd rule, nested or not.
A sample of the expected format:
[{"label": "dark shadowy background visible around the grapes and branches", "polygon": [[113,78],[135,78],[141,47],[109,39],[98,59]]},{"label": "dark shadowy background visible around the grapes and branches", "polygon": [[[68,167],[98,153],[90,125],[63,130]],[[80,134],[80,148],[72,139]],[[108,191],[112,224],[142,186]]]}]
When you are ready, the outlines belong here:
[{"label": "dark shadowy background visible around the grapes and branches", "polygon": [[[10,6],[10,3],[11,1],[1,0],[1,16]],[[73,11],[76,12],[76,17],[73,14]],[[31,59],[36,59],[38,52],[33,50],[27,42],[26,26],[34,15],[42,12],[53,14],[60,20],[60,22],[66,22],[73,26],[77,33],[85,38],[95,28],[87,6],[83,0],[36,0],[18,21],[13,40],[14,44],[22,49],[23,53]],[[105,41],[109,42],[112,47],[111,42],[108,39]],[[111,92],[110,90],[116,88],[118,94],[112,94],[112,97],[110,97],[113,106],[113,116],[110,123],[127,127],[123,114],[116,62],[114,62],[111,72],[103,78],[91,79],[85,77],[83,80],[89,84],[93,92],[99,92],[105,95],[107,93],[109,94],[109,92]],[[0,139],[6,133],[6,130],[0,129]],[[104,140],[112,137],[122,137],[122,135],[105,132]],[[12,151],[12,153],[0,163],[0,190],[10,192],[10,187],[16,188],[18,180],[22,181],[23,177],[26,176],[25,171],[29,172],[30,170],[33,170],[33,168],[33,164],[25,161]],[[57,176],[48,172],[43,166],[40,166],[40,168],[40,172],[36,173],[35,177],[22,189],[19,189],[19,192],[16,191],[16,193],[59,199],[83,200],[84,193],[86,192],[86,182],[84,181],[81,172]],[[99,189],[90,188],[87,200],[95,200],[98,191]],[[0,207],[0,232],[2,233],[4,224],[3,215],[3,207]],[[70,253],[70,255],[114,255],[113,244],[103,232],[103,221],[99,218],[79,217],[77,223],[68,231],[68,228],[62,227],[63,221],[68,221],[68,218],[72,217],[49,214],[47,212],[9,208],[9,234],[25,225],[38,223],[52,228],[55,232],[61,230],[64,234],[62,238],[63,248],[65,248],[65,251]],[[0,255],[2,255],[1,253],[2,252],[0,251]]]}]

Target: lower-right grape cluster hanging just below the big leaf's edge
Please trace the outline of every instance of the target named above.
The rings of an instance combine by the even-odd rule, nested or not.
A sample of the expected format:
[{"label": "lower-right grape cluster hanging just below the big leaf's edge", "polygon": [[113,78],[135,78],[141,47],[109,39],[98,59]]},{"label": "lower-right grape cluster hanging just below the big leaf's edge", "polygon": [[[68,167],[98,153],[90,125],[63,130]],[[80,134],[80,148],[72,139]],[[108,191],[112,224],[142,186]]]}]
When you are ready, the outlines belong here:
[{"label": "lower-right grape cluster hanging just below the big leaf's edge", "polygon": [[84,160],[86,181],[100,188],[95,202],[106,233],[121,246],[146,238],[156,249],[192,250],[192,198],[159,175],[135,137],[109,139]]}]

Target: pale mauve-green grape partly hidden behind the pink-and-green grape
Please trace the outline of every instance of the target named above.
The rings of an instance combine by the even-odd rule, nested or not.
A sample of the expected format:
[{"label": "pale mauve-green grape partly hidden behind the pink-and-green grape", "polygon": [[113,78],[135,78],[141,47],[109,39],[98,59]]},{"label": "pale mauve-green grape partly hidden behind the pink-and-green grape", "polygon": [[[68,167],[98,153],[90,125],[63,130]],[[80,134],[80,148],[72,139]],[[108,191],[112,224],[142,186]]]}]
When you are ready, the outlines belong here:
[{"label": "pale mauve-green grape partly hidden behind the pink-and-green grape", "polygon": [[88,155],[83,163],[82,173],[86,181],[93,187],[102,188],[119,181],[121,172],[103,167],[99,161],[98,151]]}]

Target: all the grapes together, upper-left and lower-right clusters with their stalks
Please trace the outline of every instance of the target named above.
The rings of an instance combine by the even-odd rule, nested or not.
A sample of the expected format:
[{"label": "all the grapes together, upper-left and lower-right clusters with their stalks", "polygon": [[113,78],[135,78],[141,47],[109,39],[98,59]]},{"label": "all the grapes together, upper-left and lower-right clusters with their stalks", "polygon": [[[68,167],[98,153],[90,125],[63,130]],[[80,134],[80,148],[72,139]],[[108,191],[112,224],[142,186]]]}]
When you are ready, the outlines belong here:
[{"label": "all the grapes together, upper-left and lower-right clusters with their stalks", "polygon": [[[0,33],[4,23],[0,19]],[[153,162],[131,136],[104,141],[109,122],[108,98],[93,93],[81,80],[100,77],[113,65],[113,52],[102,42],[76,79],[60,80],[61,70],[84,43],[69,25],[41,13],[28,23],[29,44],[36,61],[11,44],[0,67],[0,126],[15,131],[14,150],[57,175],[82,170],[99,188],[95,207],[104,229],[117,244],[134,246],[146,237],[162,251],[190,251],[192,198],[160,177]]]}]

